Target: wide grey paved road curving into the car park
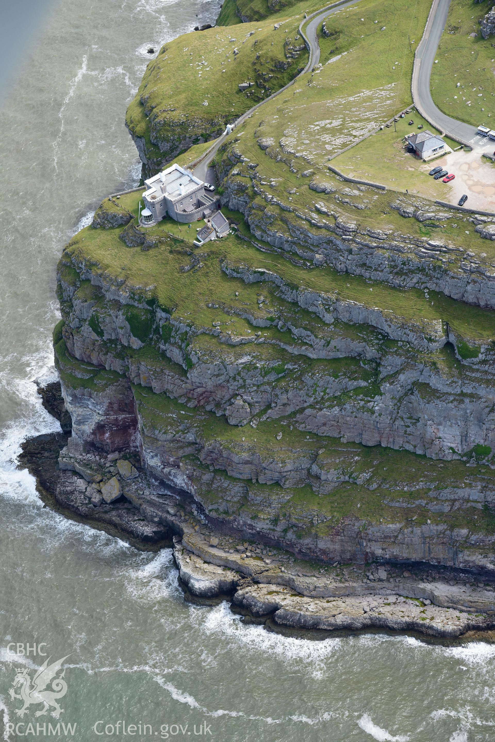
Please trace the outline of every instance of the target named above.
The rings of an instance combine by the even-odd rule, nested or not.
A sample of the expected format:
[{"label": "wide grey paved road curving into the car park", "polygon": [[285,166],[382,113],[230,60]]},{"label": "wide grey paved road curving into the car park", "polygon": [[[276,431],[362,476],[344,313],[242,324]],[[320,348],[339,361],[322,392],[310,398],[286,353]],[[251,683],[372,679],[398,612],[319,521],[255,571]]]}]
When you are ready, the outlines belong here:
[{"label": "wide grey paved road curving into the car park", "polygon": [[[431,68],[435,62],[445,24],[447,22],[450,0],[433,0],[424,36],[416,50],[416,65],[413,73],[413,100],[419,113],[436,128],[453,139],[467,143],[475,149],[486,149],[486,137],[480,137],[477,128],[442,113],[431,97]],[[481,123],[481,122],[480,122]],[[488,147],[489,148],[489,147]]]}]

